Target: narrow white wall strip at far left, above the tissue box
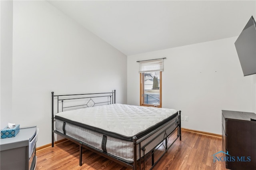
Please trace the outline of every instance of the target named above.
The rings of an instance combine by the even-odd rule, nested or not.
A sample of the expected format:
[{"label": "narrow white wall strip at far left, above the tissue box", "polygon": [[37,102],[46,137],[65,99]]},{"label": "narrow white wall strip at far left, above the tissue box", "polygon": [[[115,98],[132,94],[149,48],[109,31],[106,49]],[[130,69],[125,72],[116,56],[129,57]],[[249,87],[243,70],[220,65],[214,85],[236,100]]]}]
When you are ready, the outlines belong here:
[{"label": "narrow white wall strip at far left, above the tissue box", "polygon": [[12,121],[12,18],[13,2],[0,1],[1,11],[1,129]]}]

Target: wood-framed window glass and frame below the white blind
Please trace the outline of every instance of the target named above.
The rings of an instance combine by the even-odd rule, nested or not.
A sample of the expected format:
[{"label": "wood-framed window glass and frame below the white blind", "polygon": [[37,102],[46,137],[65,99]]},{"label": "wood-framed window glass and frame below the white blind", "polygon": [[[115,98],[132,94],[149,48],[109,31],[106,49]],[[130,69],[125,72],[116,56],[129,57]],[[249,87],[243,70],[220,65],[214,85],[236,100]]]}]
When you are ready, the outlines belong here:
[{"label": "wood-framed window glass and frame below the white blind", "polygon": [[140,73],[140,105],[162,107],[162,71]]}]

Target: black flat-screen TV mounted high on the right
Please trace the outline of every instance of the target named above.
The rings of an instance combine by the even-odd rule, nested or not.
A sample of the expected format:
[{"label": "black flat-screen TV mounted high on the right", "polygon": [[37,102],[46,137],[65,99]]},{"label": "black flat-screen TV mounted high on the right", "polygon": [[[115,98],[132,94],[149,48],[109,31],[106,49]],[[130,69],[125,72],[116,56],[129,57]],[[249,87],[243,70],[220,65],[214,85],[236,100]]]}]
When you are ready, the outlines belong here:
[{"label": "black flat-screen TV mounted high on the right", "polygon": [[256,22],[253,16],[238,36],[235,46],[244,76],[256,74]]}]

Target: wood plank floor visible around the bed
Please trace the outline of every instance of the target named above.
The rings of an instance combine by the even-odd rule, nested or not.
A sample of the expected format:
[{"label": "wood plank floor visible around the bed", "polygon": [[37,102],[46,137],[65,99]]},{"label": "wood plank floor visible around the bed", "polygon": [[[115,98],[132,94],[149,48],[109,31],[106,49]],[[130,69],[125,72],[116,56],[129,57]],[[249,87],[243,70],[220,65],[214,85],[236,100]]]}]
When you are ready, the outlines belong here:
[{"label": "wood plank floor visible around the bed", "polygon": [[[182,130],[153,170],[226,170],[225,162],[213,162],[213,154],[222,150],[222,139]],[[36,152],[36,170],[128,170],[90,150],[83,149],[79,166],[78,145],[66,141]]]}]

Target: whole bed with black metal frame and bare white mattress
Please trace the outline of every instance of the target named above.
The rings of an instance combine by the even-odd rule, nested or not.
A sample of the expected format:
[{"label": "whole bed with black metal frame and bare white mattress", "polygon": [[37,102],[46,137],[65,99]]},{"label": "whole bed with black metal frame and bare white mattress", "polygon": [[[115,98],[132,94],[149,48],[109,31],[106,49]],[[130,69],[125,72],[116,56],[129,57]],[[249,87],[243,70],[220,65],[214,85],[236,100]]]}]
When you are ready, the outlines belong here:
[{"label": "whole bed with black metal frame and bare white mattress", "polygon": [[[52,147],[54,133],[119,164],[147,169],[181,140],[181,111],[116,103],[116,91],[74,95],[52,92]],[[170,140],[169,140],[170,139]],[[159,152],[159,148],[164,148]],[[157,158],[157,159],[156,159]]]}]

